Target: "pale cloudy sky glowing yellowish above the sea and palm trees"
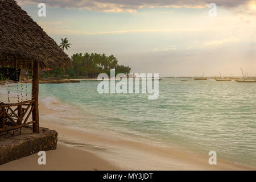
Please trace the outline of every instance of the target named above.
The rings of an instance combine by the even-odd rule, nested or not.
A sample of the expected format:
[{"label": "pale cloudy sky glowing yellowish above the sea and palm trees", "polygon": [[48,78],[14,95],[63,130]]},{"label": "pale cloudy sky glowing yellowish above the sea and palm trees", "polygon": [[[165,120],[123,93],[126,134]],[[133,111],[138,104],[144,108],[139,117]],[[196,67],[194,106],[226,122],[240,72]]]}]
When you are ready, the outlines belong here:
[{"label": "pale cloudy sky glowing yellowish above the sea and palm trees", "polygon": [[[46,17],[38,4],[46,3]],[[209,16],[209,3],[217,16]],[[57,43],[161,76],[256,74],[256,0],[18,0]]]}]

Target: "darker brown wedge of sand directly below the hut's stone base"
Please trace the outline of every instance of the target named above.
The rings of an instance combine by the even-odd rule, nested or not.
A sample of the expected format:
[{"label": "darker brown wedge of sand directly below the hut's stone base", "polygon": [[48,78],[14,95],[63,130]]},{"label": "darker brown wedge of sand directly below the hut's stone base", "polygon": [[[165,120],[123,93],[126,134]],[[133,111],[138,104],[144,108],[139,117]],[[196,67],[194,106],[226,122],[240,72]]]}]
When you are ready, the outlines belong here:
[{"label": "darker brown wedge of sand directly below the hut's stone base", "polygon": [[0,166],[0,171],[44,171],[44,170],[118,170],[98,156],[74,147],[58,144],[57,150],[46,151],[46,165],[38,164],[37,154],[14,160]]}]

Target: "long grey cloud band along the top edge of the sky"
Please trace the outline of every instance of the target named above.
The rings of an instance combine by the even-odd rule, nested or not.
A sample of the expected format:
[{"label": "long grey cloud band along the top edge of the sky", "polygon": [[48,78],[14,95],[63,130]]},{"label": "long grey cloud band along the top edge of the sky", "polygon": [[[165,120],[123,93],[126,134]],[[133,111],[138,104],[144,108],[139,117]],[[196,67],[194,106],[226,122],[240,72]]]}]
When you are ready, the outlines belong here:
[{"label": "long grey cloud band along the top edge of the sky", "polygon": [[[20,5],[28,3],[41,3],[42,0],[17,0]],[[254,0],[214,0],[217,6],[225,8],[240,9],[241,11],[253,10]],[[208,7],[212,0],[45,0],[48,6],[61,7],[64,9],[88,9],[93,11],[105,11],[112,13],[129,12],[134,13],[138,9],[145,7],[173,7],[173,8],[193,8],[202,9]],[[247,7],[247,5],[249,7]],[[241,7],[245,7],[241,9]]]}]

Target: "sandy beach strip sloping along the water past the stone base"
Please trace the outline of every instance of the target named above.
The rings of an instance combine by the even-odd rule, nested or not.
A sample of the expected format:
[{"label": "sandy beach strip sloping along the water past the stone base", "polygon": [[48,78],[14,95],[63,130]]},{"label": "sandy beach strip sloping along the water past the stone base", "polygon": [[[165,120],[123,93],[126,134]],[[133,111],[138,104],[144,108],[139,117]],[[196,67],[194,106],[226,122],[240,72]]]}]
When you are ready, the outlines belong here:
[{"label": "sandy beach strip sloping along the water past the stone base", "polygon": [[[4,97],[2,93],[0,96]],[[39,102],[39,112],[43,116],[40,117],[40,127],[59,133],[57,150],[47,151],[51,166],[39,166],[35,160],[38,156],[31,155],[4,164],[0,166],[1,170],[19,169],[24,163],[29,164],[26,170],[255,170],[255,167],[221,159],[217,160],[217,165],[209,165],[207,154],[199,155],[176,147],[158,147],[75,130],[44,119],[58,111],[48,109],[42,102]],[[70,161],[69,165],[65,163],[66,159]],[[93,161],[85,162],[89,159]]]}]

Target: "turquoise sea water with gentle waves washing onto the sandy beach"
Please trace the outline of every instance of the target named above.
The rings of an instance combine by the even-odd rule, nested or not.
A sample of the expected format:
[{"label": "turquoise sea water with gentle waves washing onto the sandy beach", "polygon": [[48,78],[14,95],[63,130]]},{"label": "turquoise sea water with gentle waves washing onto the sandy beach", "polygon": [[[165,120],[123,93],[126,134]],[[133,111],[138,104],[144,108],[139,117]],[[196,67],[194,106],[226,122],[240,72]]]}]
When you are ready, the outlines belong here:
[{"label": "turquoise sea water with gentle waves washing onto the sandy beach", "polygon": [[158,100],[148,100],[147,94],[99,94],[98,83],[41,84],[40,98],[71,104],[63,104],[59,117],[79,129],[151,138],[206,155],[214,150],[256,166],[256,84],[164,78]]}]

